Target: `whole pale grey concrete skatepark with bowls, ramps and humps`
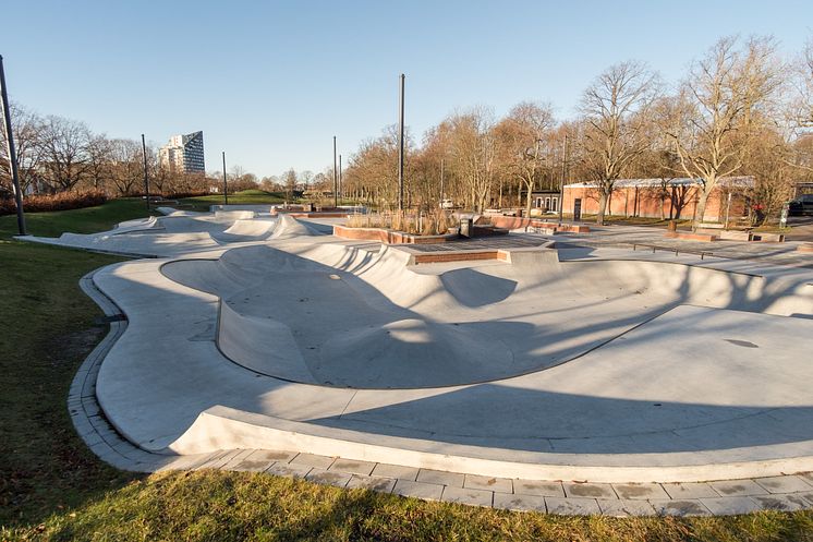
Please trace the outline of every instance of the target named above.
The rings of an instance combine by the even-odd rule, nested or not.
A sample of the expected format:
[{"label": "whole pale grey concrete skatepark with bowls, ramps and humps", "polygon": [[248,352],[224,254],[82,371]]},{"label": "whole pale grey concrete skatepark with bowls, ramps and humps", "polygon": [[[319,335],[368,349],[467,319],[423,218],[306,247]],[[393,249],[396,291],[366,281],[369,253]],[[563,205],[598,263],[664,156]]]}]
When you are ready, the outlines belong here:
[{"label": "whole pale grey concrete skatepark with bowls, ramps and humps", "polygon": [[813,470],[811,267],[521,232],[416,263],[336,220],[161,212],[34,239],[144,256],[88,288],[126,320],[95,398],[149,454],[597,484]]}]

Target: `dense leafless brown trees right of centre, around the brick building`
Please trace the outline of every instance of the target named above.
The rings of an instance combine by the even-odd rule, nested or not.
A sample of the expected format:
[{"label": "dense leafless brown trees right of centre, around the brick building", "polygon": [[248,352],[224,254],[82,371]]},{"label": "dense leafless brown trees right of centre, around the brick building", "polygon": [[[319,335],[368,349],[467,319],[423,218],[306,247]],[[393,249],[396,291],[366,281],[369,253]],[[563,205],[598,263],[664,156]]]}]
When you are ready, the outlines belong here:
[{"label": "dense leafless brown trees right of centre, around the brick building", "polygon": [[[699,180],[696,220],[721,179],[753,176],[749,198],[776,215],[792,183],[813,176],[813,40],[791,59],[772,37],[725,37],[677,84],[638,61],[607,68],[558,121],[549,103],[525,101],[503,118],[456,111],[421,144],[405,137],[410,207],[452,198],[466,208],[524,206],[531,191],[587,182],[604,220],[616,182]],[[398,204],[398,137],[365,141],[343,172],[343,192],[378,207]]]}]

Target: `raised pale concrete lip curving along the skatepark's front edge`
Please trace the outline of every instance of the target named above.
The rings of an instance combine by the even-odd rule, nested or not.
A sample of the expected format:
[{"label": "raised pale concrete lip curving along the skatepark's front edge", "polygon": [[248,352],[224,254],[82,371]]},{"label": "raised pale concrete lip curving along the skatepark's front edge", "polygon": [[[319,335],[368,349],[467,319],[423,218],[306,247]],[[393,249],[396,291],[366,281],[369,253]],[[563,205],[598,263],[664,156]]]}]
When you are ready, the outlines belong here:
[{"label": "raised pale concrete lip curving along the skatepark's front edge", "polygon": [[[315,425],[222,406],[202,412],[170,446],[172,451],[180,454],[204,454],[221,448],[270,448],[464,474],[594,483],[699,482],[813,470],[813,456],[702,465],[669,465],[666,458],[664,465],[635,466],[634,462],[611,465],[609,459],[602,460],[603,455],[593,455],[598,465],[577,465],[574,454],[534,454],[539,462],[521,462],[477,457],[477,448],[469,445],[445,446],[442,453],[434,451],[432,447],[428,441]],[[548,462],[544,461],[546,456]]]}]

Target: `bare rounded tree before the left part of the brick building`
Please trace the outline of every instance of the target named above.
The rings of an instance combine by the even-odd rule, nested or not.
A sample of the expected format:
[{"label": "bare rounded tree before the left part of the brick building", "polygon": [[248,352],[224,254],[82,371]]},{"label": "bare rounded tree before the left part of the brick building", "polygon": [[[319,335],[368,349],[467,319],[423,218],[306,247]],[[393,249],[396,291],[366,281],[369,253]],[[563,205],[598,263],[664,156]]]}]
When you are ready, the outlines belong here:
[{"label": "bare rounded tree before the left part of the brick building", "polygon": [[586,127],[581,143],[586,169],[598,190],[599,225],[615,182],[650,145],[644,127],[659,86],[657,74],[628,61],[607,69],[582,95]]}]

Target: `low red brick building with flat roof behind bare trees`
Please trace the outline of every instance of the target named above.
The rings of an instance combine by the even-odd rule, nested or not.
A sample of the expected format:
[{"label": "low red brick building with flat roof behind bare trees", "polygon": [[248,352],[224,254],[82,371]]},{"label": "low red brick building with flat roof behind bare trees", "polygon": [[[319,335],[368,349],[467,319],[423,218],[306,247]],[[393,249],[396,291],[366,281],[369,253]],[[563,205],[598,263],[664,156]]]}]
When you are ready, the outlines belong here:
[{"label": "low red brick building with flat roof behind bare trees", "polygon": [[[753,177],[729,177],[720,180],[706,203],[704,219],[713,222],[735,220],[748,215],[748,190]],[[697,179],[619,179],[607,202],[607,215],[652,218],[693,219],[700,196]],[[563,189],[563,212],[573,213],[581,200],[582,215],[598,213],[598,190],[595,183],[577,182]]]}]

